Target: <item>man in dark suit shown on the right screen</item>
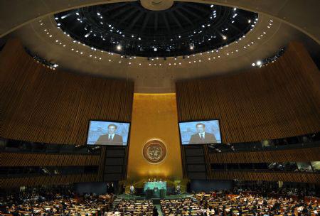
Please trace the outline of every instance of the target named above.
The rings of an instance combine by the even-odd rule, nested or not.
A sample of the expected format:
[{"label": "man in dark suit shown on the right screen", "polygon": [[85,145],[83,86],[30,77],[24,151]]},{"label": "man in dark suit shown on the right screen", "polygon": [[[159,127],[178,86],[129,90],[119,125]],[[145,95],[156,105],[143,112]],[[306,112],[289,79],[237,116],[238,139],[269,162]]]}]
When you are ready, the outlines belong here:
[{"label": "man in dark suit shown on the right screen", "polygon": [[189,144],[216,144],[214,134],[206,132],[206,125],[203,123],[196,124],[197,134],[193,134],[190,138]]}]

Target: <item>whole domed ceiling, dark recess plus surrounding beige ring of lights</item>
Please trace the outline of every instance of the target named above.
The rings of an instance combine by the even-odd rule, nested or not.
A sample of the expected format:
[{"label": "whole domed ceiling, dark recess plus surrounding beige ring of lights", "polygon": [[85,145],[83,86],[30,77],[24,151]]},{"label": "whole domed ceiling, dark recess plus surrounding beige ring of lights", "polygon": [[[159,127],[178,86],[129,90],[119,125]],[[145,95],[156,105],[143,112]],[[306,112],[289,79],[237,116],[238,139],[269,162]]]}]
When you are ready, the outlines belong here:
[{"label": "whole domed ceiling, dark recess plus surrounding beige ring of lights", "polygon": [[[254,63],[257,67],[258,62],[277,55],[290,41],[302,41],[309,50],[319,50],[319,44],[287,22],[267,13],[258,16],[233,4],[174,1],[156,8],[158,4],[142,6],[149,0],[117,1],[82,0],[74,5],[71,1],[47,0],[50,8],[43,7],[45,16],[7,37],[19,38],[31,55],[58,65],[55,72],[131,80],[134,91],[142,93],[175,92],[179,80],[245,72]],[[201,33],[194,33],[194,29]],[[150,46],[140,50],[144,43]],[[161,48],[178,43],[185,43],[185,47],[171,52]],[[155,44],[159,45],[156,51]]]}]

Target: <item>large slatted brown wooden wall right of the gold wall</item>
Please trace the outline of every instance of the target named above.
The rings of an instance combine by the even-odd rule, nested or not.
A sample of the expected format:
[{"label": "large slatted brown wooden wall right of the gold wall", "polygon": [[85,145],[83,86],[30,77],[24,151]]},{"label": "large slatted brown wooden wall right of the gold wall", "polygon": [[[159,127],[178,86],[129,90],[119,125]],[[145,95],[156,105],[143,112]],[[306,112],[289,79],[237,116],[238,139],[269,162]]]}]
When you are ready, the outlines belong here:
[{"label": "large slatted brown wooden wall right of the gold wall", "polygon": [[220,119],[224,143],[320,131],[320,74],[300,43],[238,75],[176,83],[178,120]]}]

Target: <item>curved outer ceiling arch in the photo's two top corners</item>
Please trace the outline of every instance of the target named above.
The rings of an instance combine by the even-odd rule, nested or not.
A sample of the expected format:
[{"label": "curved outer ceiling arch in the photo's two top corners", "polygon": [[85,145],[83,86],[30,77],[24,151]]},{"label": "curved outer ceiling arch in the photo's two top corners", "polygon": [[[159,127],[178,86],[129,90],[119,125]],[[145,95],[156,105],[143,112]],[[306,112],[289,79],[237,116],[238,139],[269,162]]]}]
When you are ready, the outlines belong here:
[{"label": "curved outer ceiling arch in the photo's two top corners", "polygon": [[[95,1],[95,0],[85,0],[79,3],[73,3],[70,1],[65,1],[61,4],[57,1],[46,1],[46,6],[43,6],[41,1],[30,2],[22,1],[23,4],[19,3],[16,5],[16,1],[7,2],[4,6],[4,2],[0,3],[1,11],[0,15],[0,38],[6,36],[8,33],[35,21],[37,18],[42,18],[53,13],[58,13],[61,11],[67,11],[70,9],[77,9],[84,6],[92,6],[97,4],[108,4],[115,2],[122,2],[123,0],[111,0],[111,1]],[[126,0],[135,1],[135,0]],[[179,0],[178,0],[179,1]],[[310,0],[309,4],[305,4],[304,1],[282,1],[281,5],[277,0],[270,1],[254,1],[248,2],[245,0],[188,0],[192,2],[201,2],[207,4],[219,4],[223,6],[235,6],[239,9],[245,9],[247,11],[254,11],[258,13],[265,13],[268,16],[277,18],[279,21],[297,28],[304,34],[312,38],[316,43],[320,44],[320,30],[317,28],[319,20],[319,13],[310,13],[310,11],[315,11],[319,9],[320,2],[317,0]],[[250,5],[249,5],[250,4]],[[278,7],[275,7],[278,6]],[[50,9],[50,11],[48,11]],[[300,14],[304,14],[304,19],[300,16],[297,17],[295,14],[300,10]],[[294,13],[296,12],[296,13]],[[21,16],[23,14],[23,17]],[[314,17],[313,17],[314,16]],[[11,17],[11,20],[8,20]],[[16,19],[13,19],[16,18]],[[20,19],[20,20],[19,20]],[[1,23],[1,21],[5,21]],[[307,26],[305,26],[307,25]]]}]

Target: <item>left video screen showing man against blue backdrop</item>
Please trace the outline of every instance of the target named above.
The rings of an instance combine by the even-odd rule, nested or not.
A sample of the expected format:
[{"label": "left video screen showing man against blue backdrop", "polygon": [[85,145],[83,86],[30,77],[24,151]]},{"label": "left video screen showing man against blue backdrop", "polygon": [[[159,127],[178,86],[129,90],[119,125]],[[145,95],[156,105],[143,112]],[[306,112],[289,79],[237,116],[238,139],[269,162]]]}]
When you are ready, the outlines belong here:
[{"label": "left video screen showing man against blue backdrop", "polygon": [[[108,129],[110,124],[117,126],[114,133]],[[87,134],[87,145],[127,146],[129,123],[114,121],[90,121]],[[112,131],[112,128],[111,128]],[[112,135],[112,136],[110,136]]]}]

